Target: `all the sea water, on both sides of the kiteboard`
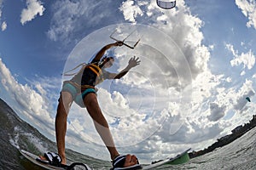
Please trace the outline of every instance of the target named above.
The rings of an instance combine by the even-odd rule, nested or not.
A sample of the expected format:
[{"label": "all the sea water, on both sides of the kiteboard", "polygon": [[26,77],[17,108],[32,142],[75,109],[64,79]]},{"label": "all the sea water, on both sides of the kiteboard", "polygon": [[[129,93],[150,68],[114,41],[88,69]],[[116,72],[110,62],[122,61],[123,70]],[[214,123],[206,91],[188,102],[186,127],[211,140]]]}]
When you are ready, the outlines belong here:
[{"label": "all the sea water, on both sides of the kiteboard", "polygon": [[[55,143],[46,139],[35,128],[31,127],[0,99],[0,170],[42,170],[20,155],[20,149],[42,154],[55,150]],[[108,170],[110,161],[101,161],[84,156],[73,150],[67,150],[69,162],[85,162],[92,169]],[[241,169],[256,170],[256,127],[222,148],[191,159],[182,165],[164,165],[155,169]]]}]

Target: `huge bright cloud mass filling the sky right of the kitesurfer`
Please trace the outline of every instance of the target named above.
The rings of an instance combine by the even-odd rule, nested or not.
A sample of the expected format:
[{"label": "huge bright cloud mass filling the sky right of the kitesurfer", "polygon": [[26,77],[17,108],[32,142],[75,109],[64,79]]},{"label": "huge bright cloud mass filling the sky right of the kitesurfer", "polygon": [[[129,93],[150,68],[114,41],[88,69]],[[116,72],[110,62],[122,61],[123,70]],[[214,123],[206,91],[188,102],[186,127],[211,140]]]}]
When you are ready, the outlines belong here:
[{"label": "huge bright cloud mass filling the sky right of the kitesurfer", "polygon": [[[132,8],[125,8],[125,5],[130,5]],[[222,103],[228,102],[228,99],[224,100],[218,95],[222,95],[221,92],[225,91],[221,84],[231,82],[232,79],[224,75],[212,74],[208,68],[211,56],[209,51],[212,50],[212,46],[206,47],[202,43],[203,21],[190,14],[184,1],[179,1],[177,7],[170,12],[160,10],[155,1],[145,0],[137,3],[127,0],[120,4],[119,10],[123,14],[123,20],[130,21],[135,27],[137,26],[135,23],[146,22],[154,29],[137,26],[136,33],[143,35],[137,48],[132,52],[127,48],[114,50],[114,54],[118,55],[119,71],[127,65],[131,53],[140,57],[142,64],[132,69],[122,80],[108,85],[108,90],[102,85],[98,93],[102,111],[108,117],[114,139],[119,146],[125,145],[124,139],[131,139],[136,143],[145,137],[150,137],[143,142],[149,144],[147,148],[152,149],[152,154],[156,150],[164,152],[162,148],[166,147],[173,149],[173,143],[181,144],[176,145],[176,150],[180,150],[184,147],[182,143],[189,144],[196,141],[206,144],[206,141],[217,138],[224,129],[219,121],[230,107]],[[79,20],[73,20],[72,26],[76,26],[78,22]],[[125,32],[134,30],[131,26],[126,27]],[[109,42],[109,35],[114,27],[109,26],[106,31],[103,30],[101,31],[104,34],[97,31],[95,34],[92,33],[91,37],[84,39],[87,41],[90,39],[90,44],[99,40],[101,43]],[[53,35],[56,39],[61,36],[56,32]],[[83,53],[82,44],[79,44],[80,51],[72,56],[88,53],[85,51]],[[96,44],[99,45],[99,42]],[[211,104],[216,105],[211,106]],[[136,130],[129,130],[129,128],[133,129],[132,127],[136,127]],[[120,135],[120,132],[126,135]],[[150,145],[152,143],[154,144]],[[138,145],[143,148],[143,144]],[[197,147],[201,148],[199,144]],[[140,151],[145,150],[137,150]]]}]

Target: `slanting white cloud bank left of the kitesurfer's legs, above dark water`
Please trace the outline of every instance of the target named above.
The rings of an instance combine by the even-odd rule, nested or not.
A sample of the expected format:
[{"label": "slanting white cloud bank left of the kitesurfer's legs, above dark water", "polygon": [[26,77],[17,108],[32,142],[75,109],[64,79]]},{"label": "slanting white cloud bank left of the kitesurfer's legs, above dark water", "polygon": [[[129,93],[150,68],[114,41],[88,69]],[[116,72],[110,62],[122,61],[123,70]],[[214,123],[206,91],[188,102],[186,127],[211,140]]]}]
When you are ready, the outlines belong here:
[{"label": "slanting white cloud bank left of the kitesurfer's legs, above dark water", "polygon": [[15,112],[52,139],[55,135],[54,112],[49,100],[28,84],[20,84],[3,64],[2,59],[0,59],[0,77],[3,88],[14,101],[11,107]]}]

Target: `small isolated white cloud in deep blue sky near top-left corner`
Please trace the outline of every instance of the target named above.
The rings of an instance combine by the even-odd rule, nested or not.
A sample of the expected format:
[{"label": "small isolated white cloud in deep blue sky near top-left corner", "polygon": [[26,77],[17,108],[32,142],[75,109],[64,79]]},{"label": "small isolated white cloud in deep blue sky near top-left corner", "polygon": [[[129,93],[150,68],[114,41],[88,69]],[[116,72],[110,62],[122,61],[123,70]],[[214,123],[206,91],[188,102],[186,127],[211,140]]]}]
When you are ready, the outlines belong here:
[{"label": "small isolated white cloud in deep blue sky near top-left corner", "polygon": [[38,0],[26,0],[26,8],[20,14],[20,22],[25,25],[26,22],[33,20],[38,14],[40,16],[44,13],[44,6]]}]

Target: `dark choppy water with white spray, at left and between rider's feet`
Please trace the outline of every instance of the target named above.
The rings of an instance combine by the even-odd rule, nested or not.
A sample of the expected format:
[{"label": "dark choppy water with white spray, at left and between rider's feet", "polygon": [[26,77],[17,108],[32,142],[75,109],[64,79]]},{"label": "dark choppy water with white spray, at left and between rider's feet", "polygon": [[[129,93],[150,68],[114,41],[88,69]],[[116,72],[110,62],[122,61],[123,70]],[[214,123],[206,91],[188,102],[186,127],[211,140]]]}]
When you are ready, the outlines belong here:
[{"label": "dark choppy water with white spray, at left and between rider's feet", "polygon": [[[38,156],[46,151],[57,152],[55,142],[44,137],[27,122],[22,121],[2,99],[0,99],[0,116],[0,169],[40,169],[21,156],[19,150],[28,150]],[[110,161],[98,160],[68,149],[66,153],[68,164],[79,161],[93,169],[111,167]]]}]

